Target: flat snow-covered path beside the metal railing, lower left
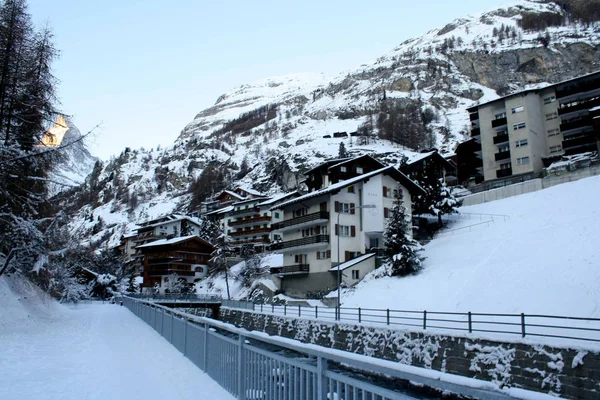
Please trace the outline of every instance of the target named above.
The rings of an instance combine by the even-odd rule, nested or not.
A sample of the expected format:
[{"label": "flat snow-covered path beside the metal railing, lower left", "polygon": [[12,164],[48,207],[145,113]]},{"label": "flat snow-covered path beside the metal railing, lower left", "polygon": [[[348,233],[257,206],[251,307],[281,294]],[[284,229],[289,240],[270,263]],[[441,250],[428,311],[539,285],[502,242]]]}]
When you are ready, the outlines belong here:
[{"label": "flat snow-covered path beside the metal railing, lower left", "polygon": [[0,330],[1,399],[233,399],[125,307],[61,311]]}]

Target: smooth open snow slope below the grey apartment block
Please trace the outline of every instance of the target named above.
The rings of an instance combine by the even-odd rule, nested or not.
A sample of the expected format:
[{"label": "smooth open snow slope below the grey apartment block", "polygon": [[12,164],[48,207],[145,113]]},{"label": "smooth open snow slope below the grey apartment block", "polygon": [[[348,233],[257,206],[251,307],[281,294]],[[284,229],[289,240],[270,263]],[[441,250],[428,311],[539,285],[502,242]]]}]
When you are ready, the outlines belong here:
[{"label": "smooth open snow slope below the grey apartment block", "polygon": [[[465,207],[452,231],[425,246],[419,274],[373,273],[345,290],[342,304],[598,318],[598,196],[600,177],[592,177]],[[497,216],[480,224],[492,216],[468,213]]]}]

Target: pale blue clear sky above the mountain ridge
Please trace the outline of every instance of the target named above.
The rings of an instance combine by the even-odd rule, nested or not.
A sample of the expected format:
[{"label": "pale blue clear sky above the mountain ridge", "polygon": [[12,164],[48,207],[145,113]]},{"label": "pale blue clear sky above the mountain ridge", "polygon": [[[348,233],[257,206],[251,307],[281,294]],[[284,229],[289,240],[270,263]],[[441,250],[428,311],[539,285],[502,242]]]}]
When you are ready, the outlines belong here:
[{"label": "pale blue clear sky above the mountain ridge", "polygon": [[91,152],[170,145],[221,94],[297,72],[335,75],[502,0],[29,0],[60,58],[61,110]]}]

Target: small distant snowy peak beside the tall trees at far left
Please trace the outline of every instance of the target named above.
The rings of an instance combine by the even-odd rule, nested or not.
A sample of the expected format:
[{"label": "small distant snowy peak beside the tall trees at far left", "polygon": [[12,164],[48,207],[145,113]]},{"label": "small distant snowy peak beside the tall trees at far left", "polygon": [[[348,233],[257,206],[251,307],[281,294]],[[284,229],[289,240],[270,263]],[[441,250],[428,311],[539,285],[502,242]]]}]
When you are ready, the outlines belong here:
[{"label": "small distant snowy peak beside the tall trees at far left", "polygon": [[66,131],[62,138],[60,159],[54,166],[50,179],[50,192],[56,194],[65,188],[81,185],[92,172],[98,158],[92,156],[81,138],[81,132],[72,121],[66,120]]}]

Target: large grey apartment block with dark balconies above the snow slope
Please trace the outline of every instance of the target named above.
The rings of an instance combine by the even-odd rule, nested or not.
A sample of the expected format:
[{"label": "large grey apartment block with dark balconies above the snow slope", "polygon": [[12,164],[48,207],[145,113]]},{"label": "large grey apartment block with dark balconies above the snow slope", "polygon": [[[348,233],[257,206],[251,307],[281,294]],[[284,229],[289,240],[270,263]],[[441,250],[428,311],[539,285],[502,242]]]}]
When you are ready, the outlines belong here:
[{"label": "large grey apartment block with dark balconies above the snow slope", "polygon": [[562,155],[597,151],[599,106],[596,72],[469,108],[477,172],[485,181],[526,178]]}]

